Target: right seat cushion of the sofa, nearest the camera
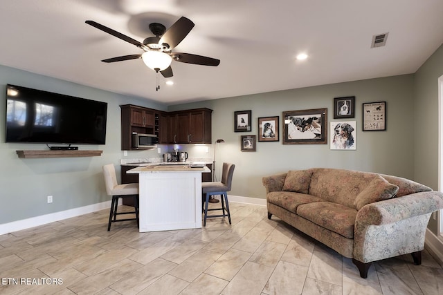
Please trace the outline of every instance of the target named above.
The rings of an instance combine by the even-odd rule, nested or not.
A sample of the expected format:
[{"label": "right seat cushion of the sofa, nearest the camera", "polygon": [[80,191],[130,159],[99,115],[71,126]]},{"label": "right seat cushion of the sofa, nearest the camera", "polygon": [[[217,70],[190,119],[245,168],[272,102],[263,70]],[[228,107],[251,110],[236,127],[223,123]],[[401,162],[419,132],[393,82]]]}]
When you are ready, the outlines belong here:
[{"label": "right seat cushion of the sofa, nearest the camera", "polygon": [[298,206],[297,214],[345,238],[354,238],[357,215],[354,208],[332,202],[314,202]]}]

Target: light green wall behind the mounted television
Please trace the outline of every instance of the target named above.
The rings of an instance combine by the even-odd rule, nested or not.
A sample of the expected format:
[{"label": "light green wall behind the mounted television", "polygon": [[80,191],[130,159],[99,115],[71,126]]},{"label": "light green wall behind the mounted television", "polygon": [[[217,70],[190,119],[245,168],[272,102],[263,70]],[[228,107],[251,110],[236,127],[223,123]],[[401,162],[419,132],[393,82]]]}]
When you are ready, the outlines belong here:
[{"label": "light green wall behind the mounted television", "polygon": [[[47,149],[45,144],[5,143],[6,84],[16,84],[108,103],[105,145],[80,145],[103,150],[100,157],[21,159],[16,150]],[[159,110],[166,106],[147,99],[127,97],[73,84],[23,70],[0,66],[0,224],[64,211],[109,200],[102,179],[102,165],[116,164],[120,151],[120,104],[138,104]],[[129,152],[129,157],[157,156],[156,151]],[[120,176],[118,176],[120,178]],[[47,204],[46,197],[53,196]]]}]

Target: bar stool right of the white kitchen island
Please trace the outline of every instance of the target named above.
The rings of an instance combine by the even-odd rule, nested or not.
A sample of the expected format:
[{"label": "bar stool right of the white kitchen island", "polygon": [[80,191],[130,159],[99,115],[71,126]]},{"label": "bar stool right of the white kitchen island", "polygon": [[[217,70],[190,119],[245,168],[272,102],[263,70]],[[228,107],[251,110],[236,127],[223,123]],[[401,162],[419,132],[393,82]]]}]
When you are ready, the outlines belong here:
[{"label": "bar stool right of the white kitchen island", "polygon": [[[235,164],[223,163],[223,171],[221,174],[221,182],[202,182],[201,183],[201,193],[204,202],[204,222],[203,226],[206,227],[206,218],[214,218],[214,217],[225,217],[228,216],[229,224],[230,223],[230,211],[229,211],[229,203],[228,203],[228,191],[230,191],[233,174],[234,174]],[[208,203],[210,196],[219,195],[221,198],[221,208],[208,209]],[[226,207],[224,206],[224,202],[226,202]],[[208,216],[208,211],[221,210],[223,214],[220,215],[210,215]],[[225,211],[226,213],[225,214]]]}]

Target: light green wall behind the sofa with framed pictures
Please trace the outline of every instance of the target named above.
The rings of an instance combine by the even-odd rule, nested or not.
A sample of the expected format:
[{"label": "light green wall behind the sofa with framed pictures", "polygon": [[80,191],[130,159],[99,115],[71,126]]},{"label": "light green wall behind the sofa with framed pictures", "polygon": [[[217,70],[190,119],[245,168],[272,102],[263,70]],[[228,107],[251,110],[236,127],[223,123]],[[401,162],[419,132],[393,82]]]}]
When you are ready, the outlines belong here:
[{"label": "light green wall behind the sofa with framed pictures", "polygon": [[[334,121],[334,97],[355,96],[356,151],[332,151],[328,144],[282,144],[257,142],[257,152],[240,151],[241,135],[257,135],[257,118],[280,116],[282,111],[327,108],[328,123]],[[385,101],[387,131],[362,131],[363,102]],[[334,167],[399,175],[414,176],[413,75],[368,79],[341,84],[299,88],[273,93],[230,97],[170,106],[170,111],[183,108],[208,107],[213,111],[213,141],[222,138],[217,146],[218,168],[221,162],[236,164],[233,189],[235,196],[265,198],[262,177],[289,169]],[[252,111],[251,132],[234,132],[234,111]],[[335,120],[338,121],[338,120]],[[329,129],[329,124],[328,124]],[[280,132],[281,134],[281,132]],[[192,150],[192,146],[183,149]],[[212,153],[211,153],[212,155]],[[217,175],[220,175],[217,169]]]}]

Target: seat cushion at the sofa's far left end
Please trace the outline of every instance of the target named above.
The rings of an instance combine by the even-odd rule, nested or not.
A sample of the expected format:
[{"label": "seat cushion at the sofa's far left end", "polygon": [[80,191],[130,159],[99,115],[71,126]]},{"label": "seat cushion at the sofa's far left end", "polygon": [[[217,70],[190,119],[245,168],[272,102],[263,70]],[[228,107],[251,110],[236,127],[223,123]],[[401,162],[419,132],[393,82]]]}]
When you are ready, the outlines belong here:
[{"label": "seat cushion at the sofa's far left end", "polygon": [[272,204],[277,205],[291,211],[297,212],[297,207],[300,204],[308,204],[311,202],[323,202],[323,199],[307,195],[305,193],[293,193],[291,191],[273,191],[266,195],[266,200]]}]

